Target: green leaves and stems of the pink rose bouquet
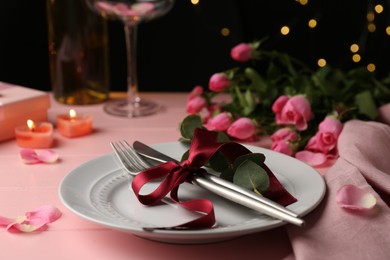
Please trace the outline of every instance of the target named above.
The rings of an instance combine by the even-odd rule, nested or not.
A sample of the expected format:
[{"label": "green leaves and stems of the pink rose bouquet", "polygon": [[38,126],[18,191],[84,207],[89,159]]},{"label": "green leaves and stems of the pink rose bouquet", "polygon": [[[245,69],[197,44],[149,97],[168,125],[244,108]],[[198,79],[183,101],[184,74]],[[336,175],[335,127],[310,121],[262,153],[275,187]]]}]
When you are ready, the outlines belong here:
[{"label": "green leaves and stems of the pink rose bouquet", "polygon": [[[378,108],[390,102],[390,74],[377,79],[365,67],[342,71],[328,65],[313,70],[288,54],[262,50],[264,41],[250,43],[255,48],[250,61],[223,72],[231,82],[228,88],[219,93],[203,93],[208,106],[217,103],[216,96],[228,94],[231,101],[220,103],[217,112],[227,111],[233,120],[251,118],[259,135],[271,135],[280,127],[275,123],[272,104],[281,95],[305,95],[311,104],[314,118],[307,130],[299,133],[297,147],[305,146],[328,115],[342,122],[376,120]],[[184,139],[191,139],[194,127],[201,125],[199,117],[185,118],[181,125]]]}]

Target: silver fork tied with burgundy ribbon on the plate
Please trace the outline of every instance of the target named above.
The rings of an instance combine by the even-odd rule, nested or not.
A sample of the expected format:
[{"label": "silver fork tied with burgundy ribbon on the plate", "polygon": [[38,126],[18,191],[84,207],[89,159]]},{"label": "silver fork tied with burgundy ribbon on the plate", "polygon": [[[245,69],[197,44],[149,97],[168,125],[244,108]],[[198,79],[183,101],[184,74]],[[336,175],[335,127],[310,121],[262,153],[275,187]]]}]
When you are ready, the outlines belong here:
[{"label": "silver fork tied with burgundy ribbon on the plate", "polygon": [[[146,163],[145,160],[140,155],[138,155],[134,148],[125,140],[111,142],[110,144],[114,149],[115,154],[119,158],[120,162],[122,163],[123,167],[131,175],[135,176],[139,172],[151,167],[151,165]],[[259,201],[247,197],[235,190],[223,187],[215,182],[212,182],[208,178],[205,178],[201,175],[194,175],[191,179],[191,183],[210,192],[213,192],[225,199],[258,211],[262,214],[268,215],[276,219],[284,220],[297,226],[304,226],[304,220],[299,217],[283,213],[273,207],[270,207],[267,204],[260,203]]]}]

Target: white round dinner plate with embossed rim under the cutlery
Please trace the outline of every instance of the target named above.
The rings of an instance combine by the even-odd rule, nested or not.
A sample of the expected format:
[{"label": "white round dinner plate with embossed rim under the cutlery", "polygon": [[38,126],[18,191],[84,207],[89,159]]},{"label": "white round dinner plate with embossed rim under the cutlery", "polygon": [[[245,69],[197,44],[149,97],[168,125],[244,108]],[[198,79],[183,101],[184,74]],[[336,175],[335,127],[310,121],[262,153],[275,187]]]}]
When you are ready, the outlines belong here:
[{"label": "white round dinner plate with embossed rim under the cutlery", "polygon": [[[175,159],[180,159],[186,151],[186,147],[179,142],[160,143],[152,147]],[[298,199],[288,208],[302,217],[320,203],[326,185],[315,169],[281,153],[250,145],[246,147],[252,152],[264,153],[265,163],[283,186]],[[145,230],[145,227],[175,226],[197,216],[196,213],[169,202],[156,206],[142,205],[129,186],[131,179],[122,170],[115,154],[107,154],[83,163],[67,174],[60,184],[59,196],[69,210],[82,218],[108,228],[167,243],[217,242],[286,224],[195,185],[184,183],[179,188],[179,198],[209,198],[214,204],[217,225],[202,230]],[[152,189],[153,185],[155,184],[148,188]]]}]

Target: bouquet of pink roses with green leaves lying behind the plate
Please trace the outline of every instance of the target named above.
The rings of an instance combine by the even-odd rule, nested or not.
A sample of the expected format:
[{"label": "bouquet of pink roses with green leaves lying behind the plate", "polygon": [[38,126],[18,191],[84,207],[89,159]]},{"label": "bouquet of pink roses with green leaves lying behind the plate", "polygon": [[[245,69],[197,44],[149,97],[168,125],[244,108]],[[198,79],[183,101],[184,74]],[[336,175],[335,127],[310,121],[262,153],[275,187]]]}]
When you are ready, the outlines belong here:
[{"label": "bouquet of pink roses with green leaves lying behind the plate", "polygon": [[376,120],[378,107],[390,101],[390,75],[379,80],[364,67],[313,70],[288,54],[261,49],[263,42],[233,47],[237,67],[213,74],[208,90],[191,91],[182,142],[198,127],[217,131],[221,140],[269,136],[272,150],[319,166],[338,156],[343,122]]}]

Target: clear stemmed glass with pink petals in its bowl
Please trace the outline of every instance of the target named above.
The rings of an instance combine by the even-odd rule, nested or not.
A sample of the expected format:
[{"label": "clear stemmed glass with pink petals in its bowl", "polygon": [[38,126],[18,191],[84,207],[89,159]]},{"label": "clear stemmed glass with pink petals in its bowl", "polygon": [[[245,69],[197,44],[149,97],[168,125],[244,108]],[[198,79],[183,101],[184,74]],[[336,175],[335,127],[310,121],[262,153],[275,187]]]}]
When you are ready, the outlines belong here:
[{"label": "clear stemmed glass with pink petals in its bowl", "polygon": [[141,117],[156,113],[160,106],[142,99],[138,93],[137,28],[140,22],[166,14],[174,0],[86,0],[87,5],[106,19],[119,19],[124,24],[127,53],[127,98],[108,101],[104,110],[115,116]]}]

